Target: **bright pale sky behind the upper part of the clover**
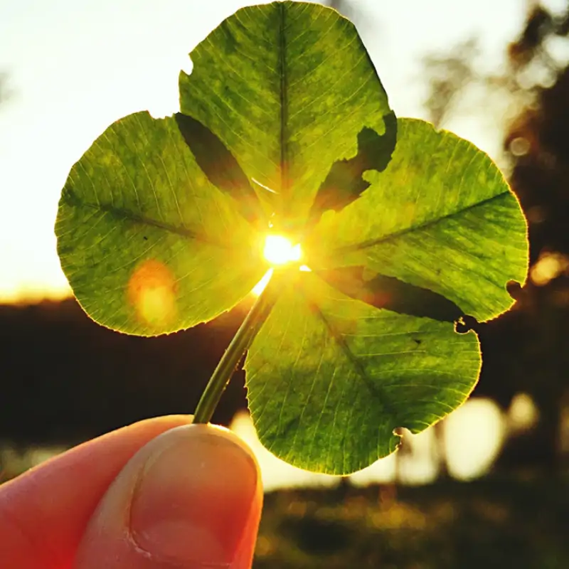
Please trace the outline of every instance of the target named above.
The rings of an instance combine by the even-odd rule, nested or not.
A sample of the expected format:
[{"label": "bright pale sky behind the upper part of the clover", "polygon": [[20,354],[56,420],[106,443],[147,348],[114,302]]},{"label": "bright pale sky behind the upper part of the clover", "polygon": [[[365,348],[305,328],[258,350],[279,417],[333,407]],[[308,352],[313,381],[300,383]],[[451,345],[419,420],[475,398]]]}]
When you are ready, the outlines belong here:
[{"label": "bright pale sky behind the upper part of the clover", "polygon": [[[531,0],[353,0],[356,25],[398,116],[425,118],[420,60],[479,38],[488,69],[504,65]],[[565,0],[546,4],[562,6]],[[53,224],[68,172],[113,121],[175,112],[188,52],[234,0],[0,0],[0,302],[69,294]],[[481,118],[482,117],[482,118]],[[495,155],[500,136],[469,110],[449,126]]]}]

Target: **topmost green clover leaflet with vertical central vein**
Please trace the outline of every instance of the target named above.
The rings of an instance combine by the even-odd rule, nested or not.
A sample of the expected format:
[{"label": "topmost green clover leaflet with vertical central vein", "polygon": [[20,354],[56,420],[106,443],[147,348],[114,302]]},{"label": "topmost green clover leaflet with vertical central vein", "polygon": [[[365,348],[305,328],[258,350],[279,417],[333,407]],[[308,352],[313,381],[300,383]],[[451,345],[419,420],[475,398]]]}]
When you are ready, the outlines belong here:
[{"label": "topmost green clover leaflet with vertical central vein", "polygon": [[[190,55],[181,111],[223,141],[285,230],[302,230],[332,164],[358,155],[360,133],[385,134],[387,95],[356,28],[334,10],[243,8]],[[389,155],[378,153],[378,168]]]}]

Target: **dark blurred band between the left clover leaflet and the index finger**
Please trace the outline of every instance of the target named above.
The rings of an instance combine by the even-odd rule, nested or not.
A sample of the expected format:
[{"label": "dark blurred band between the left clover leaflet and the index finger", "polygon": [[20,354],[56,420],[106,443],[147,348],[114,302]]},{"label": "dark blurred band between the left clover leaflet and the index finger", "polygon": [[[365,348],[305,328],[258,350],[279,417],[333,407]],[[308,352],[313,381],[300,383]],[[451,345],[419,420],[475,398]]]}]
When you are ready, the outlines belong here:
[{"label": "dark blurred band between the left clover leaflet and the index finger", "polygon": [[[75,300],[0,307],[0,439],[73,444],[130,422],[191,413],[243,313],[156,338],[117,334]],[[214,420],[245,406],[243,374]]]}]

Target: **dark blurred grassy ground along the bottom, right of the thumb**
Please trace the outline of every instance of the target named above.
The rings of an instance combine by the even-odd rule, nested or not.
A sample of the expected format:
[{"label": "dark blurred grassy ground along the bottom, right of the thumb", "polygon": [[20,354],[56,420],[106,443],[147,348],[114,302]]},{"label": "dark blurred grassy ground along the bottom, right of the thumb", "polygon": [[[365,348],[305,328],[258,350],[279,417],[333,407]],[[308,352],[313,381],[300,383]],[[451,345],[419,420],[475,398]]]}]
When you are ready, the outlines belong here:
[{"label": "dark blurred grassy ground along the bottom, right of the thumb", "polygon": [[566,569],[569,478],[267,494],[255,569]]}]

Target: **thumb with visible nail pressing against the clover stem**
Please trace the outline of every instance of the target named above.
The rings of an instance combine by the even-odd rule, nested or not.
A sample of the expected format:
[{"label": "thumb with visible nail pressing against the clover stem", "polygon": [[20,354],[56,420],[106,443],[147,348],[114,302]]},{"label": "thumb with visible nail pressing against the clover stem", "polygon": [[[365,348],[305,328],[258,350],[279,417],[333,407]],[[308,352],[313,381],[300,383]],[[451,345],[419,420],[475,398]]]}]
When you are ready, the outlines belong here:
[{"label": "thumb with visible nail pressing against the clover stem", "polygon": [[261,506],[259,468],[244,442],[222,427],[176,427],[111,484],[75,568],[250,568]]}]

